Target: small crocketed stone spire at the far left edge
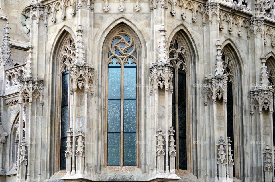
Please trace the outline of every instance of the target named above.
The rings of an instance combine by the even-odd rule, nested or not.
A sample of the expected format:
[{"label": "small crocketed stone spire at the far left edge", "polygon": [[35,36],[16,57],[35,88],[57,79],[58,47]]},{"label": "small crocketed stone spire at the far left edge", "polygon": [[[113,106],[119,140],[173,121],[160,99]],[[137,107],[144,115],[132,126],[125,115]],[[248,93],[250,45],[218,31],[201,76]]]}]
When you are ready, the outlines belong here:
[{"label": "small crocketed stone spire at the far left edge", "polygon": [[2,62],[3,65],[9,65],[9,67],[13,66],[13,60],[11,58],[11,44],[10,44],[10,39],[9,39],[9,23],[6,23],[6,26],[4,27],[5,35],[3,38],[3,46],[1,50],[1,58],[0,62]]}]

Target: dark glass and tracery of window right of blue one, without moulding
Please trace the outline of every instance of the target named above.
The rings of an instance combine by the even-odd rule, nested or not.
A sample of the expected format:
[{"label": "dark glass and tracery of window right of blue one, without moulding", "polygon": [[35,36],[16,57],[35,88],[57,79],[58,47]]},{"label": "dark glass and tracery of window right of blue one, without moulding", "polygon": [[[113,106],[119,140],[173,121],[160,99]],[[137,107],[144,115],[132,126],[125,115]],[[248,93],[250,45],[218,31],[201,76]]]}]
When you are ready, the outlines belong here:
[{"label": "dark glass and tracery of window right of blue one, without moulding", "polygon": [[182,39],[175,36],[169,48],[169,60],[173,66],[172,126],[175,128],[176,169],[187,170],[186,129],[186,64]]}]

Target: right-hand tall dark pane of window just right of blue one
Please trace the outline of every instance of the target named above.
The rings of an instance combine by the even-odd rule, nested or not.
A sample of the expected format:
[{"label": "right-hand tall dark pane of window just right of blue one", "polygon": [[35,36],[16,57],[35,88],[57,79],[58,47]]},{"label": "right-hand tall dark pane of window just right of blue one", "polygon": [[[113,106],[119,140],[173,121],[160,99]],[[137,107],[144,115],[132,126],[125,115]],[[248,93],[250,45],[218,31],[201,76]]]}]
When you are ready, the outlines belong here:
[{"label": "right-hand tall dark pane of window just right of blue one", "polygon": [[186,75],[181,69],[178,70],[178,154],[179,169],[186,170]]}]

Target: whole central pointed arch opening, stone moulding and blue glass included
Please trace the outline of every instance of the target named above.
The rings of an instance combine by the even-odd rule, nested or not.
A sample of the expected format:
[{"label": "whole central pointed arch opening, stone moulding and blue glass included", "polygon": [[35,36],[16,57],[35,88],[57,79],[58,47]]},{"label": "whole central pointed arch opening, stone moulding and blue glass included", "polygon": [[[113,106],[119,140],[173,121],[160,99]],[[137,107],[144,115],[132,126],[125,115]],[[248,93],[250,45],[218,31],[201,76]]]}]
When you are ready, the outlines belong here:
[{"label": "whole central pointed arch opening, stone moulding and blue glass included", "polygon": [[[126,24],[114,27],[103,43],[104,167],[141,163],[142,50],[137,34]],[[134,145],[133,145],[134,144]]]}]

